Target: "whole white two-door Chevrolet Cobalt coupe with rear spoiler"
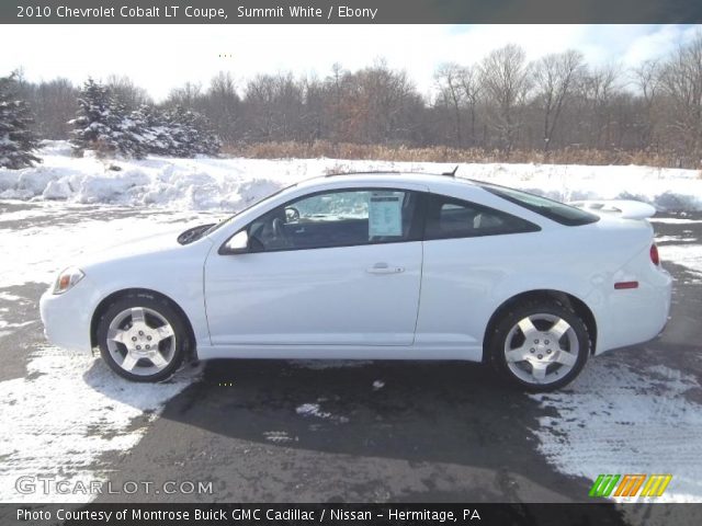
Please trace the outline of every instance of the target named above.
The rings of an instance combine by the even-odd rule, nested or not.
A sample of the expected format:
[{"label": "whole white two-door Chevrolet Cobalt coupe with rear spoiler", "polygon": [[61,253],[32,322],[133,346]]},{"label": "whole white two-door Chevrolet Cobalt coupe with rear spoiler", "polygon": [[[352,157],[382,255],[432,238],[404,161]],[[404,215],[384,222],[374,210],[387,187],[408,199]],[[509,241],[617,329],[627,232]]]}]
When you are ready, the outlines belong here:
[{"label": "whole white two-door Chevrolet Cobalt coupe with rear spoiler", "polygon": [[551,390],[666,324],[671,278],[655,210],[638,205],[581,204],[592,213],[450,174],[327,175],[78,262],[42,320],[54,344],[100,347],[136,381],[185,358],[461,359]]}]

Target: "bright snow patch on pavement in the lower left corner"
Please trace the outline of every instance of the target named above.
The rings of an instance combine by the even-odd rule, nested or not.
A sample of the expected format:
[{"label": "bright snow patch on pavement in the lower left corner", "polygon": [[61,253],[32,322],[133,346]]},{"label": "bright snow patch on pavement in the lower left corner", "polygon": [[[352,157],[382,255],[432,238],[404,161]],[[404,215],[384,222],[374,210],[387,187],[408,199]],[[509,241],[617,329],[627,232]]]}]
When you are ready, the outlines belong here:
[{"label": "bright snow patch on pavement in the lower left corner", "polygon": [[[105,454],[134,447],[163,404],[197,376],[181,369],[165,384],[134,385],[115,377],[97,357],[37,346],[27,376],[0,382],[0,502],[89,502],[95,495],[73,488],[109,476]],[[37,493],[21,493],[21,477],[69,480],[57,495],[37,482]]]}]

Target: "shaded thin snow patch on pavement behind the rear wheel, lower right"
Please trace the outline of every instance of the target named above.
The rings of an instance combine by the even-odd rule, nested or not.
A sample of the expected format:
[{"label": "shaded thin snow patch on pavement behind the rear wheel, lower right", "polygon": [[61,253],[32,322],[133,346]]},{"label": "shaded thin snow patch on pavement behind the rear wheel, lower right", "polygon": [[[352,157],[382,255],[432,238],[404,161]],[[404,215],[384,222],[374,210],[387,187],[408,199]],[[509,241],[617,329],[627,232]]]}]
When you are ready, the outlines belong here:
[{"label": "shaded thin snow patch on pavement behind the rear wheel, lower right", "polygon": [[702,502],[702,411],[686,398],[694,390],[697,379],[680,370],[639,371],[593,359],[571,389],[532,396],[556,411],[534,430],[539,450],[559,471],[590,480],[600,473],[672,473],[663,498],[637,502]]}]

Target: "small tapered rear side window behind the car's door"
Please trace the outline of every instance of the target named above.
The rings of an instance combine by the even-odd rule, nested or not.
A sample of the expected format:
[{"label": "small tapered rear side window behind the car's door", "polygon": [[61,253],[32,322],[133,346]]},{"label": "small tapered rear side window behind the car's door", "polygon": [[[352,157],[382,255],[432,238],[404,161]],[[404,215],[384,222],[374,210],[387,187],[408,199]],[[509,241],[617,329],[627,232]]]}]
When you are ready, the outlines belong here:
[{"label": "small tapered rear side window behind the car's door", "polygon": [[424,239],[473,238],[534,232],[540,228],[525,219],[445,195],[429,194]]}]

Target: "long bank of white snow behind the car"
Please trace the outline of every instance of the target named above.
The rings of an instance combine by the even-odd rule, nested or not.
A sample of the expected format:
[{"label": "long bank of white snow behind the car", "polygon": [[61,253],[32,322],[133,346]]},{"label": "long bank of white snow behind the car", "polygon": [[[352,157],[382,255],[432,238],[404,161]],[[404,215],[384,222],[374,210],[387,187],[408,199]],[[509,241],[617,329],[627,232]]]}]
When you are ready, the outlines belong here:
[{"label": "long bank of white snow behind the car", "polygon": [[[297,181],[339,170],[440,173],[455,164],[335,159],[76,159],[65,141],[46,141],[44,163],[0,169],[0,198],[159,205],[236,210]],[[118,170],[114,170],[117,168]],[[694,170],[650,167],[461,164],[458,175],[532,191],[559,201],[636,198],[660,210],[702,210],[702,179]]]}]

